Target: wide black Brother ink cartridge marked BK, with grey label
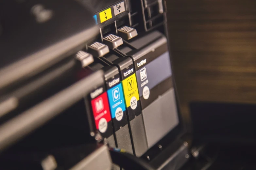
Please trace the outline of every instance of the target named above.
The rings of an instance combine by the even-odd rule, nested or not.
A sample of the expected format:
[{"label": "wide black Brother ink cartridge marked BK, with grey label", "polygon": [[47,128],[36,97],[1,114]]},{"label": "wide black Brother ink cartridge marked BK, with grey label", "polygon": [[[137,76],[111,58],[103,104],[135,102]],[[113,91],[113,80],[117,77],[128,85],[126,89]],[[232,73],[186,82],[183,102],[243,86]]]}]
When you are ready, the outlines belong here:
[{"label": "wide black Brother ink cartridge marked BK, with grey label", "polygon": [[136,49],[123,47],[119,50],[131,57],[134,63],[150,148],[179,123],[167,39],[159,31],[154,31],[129,41],[129,45]]}]

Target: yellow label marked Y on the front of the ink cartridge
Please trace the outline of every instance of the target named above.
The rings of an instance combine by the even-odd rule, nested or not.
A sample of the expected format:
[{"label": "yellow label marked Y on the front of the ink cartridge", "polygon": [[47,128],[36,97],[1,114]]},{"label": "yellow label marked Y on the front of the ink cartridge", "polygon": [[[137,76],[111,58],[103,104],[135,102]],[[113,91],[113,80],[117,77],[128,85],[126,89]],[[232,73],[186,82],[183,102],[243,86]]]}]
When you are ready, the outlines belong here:
[{"label": "yellow label marked Y on the front of the ink cartridge", "polygon": [[131,98],[133,96],[137,99],[137,101],[140,100],[135,73],[130,77],[124,79],[122,81],[122,86],[125,96],[126,107],[129,107],[131,105]]}]

